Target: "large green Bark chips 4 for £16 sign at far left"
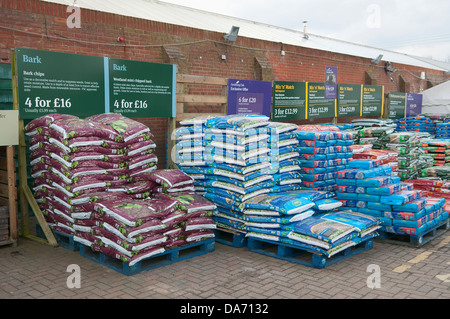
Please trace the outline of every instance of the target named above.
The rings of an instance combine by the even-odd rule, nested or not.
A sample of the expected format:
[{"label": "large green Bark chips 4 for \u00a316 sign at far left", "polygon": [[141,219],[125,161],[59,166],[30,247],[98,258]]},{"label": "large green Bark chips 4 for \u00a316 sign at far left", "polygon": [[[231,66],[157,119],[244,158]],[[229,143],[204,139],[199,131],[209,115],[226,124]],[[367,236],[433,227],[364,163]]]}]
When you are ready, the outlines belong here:
[{"label": "large green Bark chips 4 for \u00a316 sign at far left", "polygon": [[20,119],[105,111],[102,57],[18,48],[16,66]]}]

